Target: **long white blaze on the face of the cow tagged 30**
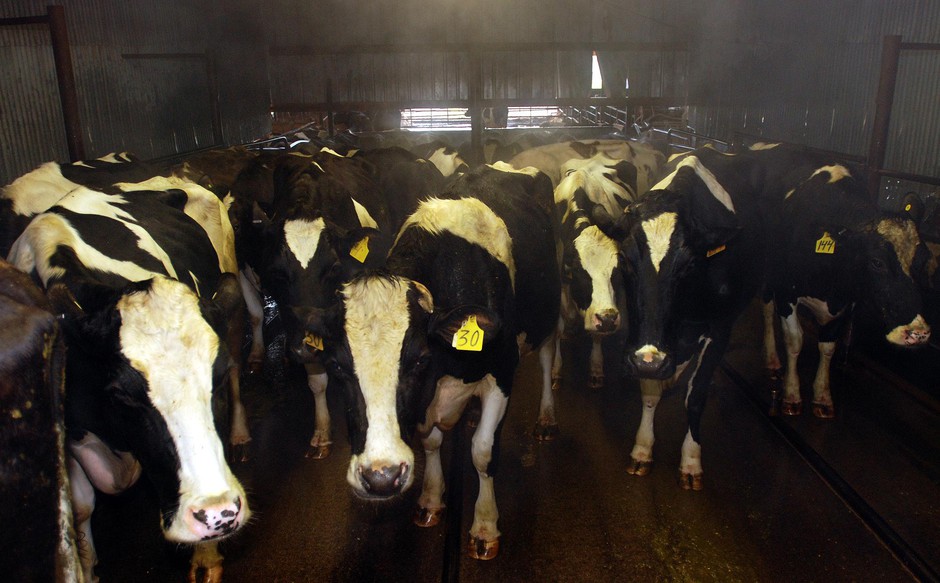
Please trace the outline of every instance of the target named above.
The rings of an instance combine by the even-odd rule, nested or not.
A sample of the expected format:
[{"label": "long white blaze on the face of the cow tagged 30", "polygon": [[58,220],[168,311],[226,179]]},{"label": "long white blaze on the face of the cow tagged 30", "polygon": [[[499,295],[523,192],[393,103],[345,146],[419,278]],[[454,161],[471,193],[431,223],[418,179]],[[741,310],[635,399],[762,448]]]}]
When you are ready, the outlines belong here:
[{"label": "long white blaze on the face of the cow tagged 30", "polygon": [[[360,479],[363,469],[414,467],[414,453],[401,439],[396,405],[400,356],[410,320],[408,289],[406,280],[391,277],[353,281],[343,287],[346,339],[369,424],[365,447],[350,459],[346,481],[363,495],[367,494]],[[401,490],[413,480],[413,472],[405,473]]]}]

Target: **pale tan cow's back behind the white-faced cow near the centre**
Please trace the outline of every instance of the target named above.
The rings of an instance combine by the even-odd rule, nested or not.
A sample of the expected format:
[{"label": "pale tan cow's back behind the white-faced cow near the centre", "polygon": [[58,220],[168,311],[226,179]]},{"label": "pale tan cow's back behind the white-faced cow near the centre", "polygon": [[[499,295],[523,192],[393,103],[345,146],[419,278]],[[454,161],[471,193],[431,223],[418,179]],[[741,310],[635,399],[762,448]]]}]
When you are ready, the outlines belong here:
[{"label": "pale tan cow's back behind the white-faced cow near the centre", "polygon": [[538,168],[552,179],[554,187],[558,186],[564,176],[563,164],[569,160],[592,158],[598,154],[632,162],[637,169],[638,192],[646,192],[659,178],[666,164],[666,157],[655,147],[645,142],[630,140],[574,140],[547,144],[520,152],[509,164],[514,168]]}]

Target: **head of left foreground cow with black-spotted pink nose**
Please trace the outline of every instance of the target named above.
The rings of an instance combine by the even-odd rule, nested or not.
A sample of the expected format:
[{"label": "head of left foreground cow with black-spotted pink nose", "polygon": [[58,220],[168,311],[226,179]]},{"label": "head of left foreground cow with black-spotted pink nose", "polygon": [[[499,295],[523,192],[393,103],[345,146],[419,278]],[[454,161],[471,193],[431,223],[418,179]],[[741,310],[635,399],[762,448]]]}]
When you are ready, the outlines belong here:
[{"label": "head of left foreground cow with black-spotted pink nose", "polygon": [[[216,297],[198,298],[164,277],[123,290],[55,284],[49,297],[64,314],[72,407],[94,407],[108,437],[140,460],[156,486],[167,540],[227,536],[250,517],[245,490],[225,462],[212,414],[228,350],[224,314],[241,301],[231,275]],[[78,297],[81,305],[76,301]]]}]

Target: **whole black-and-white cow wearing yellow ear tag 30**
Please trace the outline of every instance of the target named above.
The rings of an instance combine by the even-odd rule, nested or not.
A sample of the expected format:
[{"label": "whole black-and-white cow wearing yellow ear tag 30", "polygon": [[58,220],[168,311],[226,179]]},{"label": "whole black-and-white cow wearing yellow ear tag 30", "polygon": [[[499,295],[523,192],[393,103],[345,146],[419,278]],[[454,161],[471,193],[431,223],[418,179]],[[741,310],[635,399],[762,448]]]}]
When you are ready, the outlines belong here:
[{"label": "whole black-and-white cow wearing yellow ear tag 30", "polygon": [[358,495],[389,498],[411,486],[407,444],[417,427],[427,460],[420,526],[437,524],[444,509],[442,431],[471,397],[480,398],[472,440],[480,490],[469,547],[477,559],[499,548],[493,473],[523,347],[538,349],[541,422],[554,423],[552,336],[561,290],[551,207],[551,185],[535,169],[474,169],[442,198],[420,204],[399,232],[388,272],[353,279],[341,304],[306,319],[322,339],[332,378],[347,391],[347,481]]}]

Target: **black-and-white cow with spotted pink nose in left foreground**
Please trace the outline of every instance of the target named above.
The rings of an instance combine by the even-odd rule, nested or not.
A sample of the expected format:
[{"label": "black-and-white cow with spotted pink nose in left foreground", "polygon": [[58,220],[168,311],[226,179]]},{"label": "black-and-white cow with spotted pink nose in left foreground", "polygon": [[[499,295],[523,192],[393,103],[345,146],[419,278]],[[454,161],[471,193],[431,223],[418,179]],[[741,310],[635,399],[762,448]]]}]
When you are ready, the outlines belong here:
[{"label": "black-and-white cow with spotted pink nose in left foreground", "polygon": [[[197,216],[227,221],[211,194]],[[194,573],[221,576],[217,541],[250,517],[225,462],[213,395],[229,369],[226,326],[241,307],[211,227],[179,190],[108,195],[78,188],[38,215],[11,261],[47,289],[68,347],[66,428],[75,520],[91,536],[94,490],[115,494],[143,471],[167,540],[195,545]]]}]

